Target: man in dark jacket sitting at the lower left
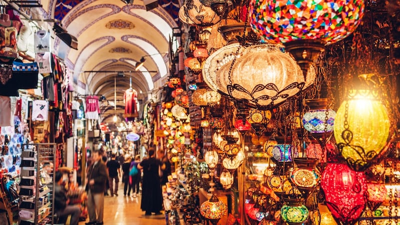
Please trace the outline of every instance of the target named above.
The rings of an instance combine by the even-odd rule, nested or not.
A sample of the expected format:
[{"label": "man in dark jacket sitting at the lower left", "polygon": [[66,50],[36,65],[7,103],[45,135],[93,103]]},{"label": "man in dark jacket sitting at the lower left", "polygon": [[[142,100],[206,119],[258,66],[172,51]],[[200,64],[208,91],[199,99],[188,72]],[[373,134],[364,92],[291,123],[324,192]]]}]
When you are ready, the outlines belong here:
[{"label": "man in dark jacket sitting at the lower left", "polygon": [[71,215],[71,225],[78,225],[80,208],[76,205],[68,205],[68,198],[65,194],[65,189],[62,186],[62,173],[55,172],[55,186],[54,186],[54,209],[58,216]]}]

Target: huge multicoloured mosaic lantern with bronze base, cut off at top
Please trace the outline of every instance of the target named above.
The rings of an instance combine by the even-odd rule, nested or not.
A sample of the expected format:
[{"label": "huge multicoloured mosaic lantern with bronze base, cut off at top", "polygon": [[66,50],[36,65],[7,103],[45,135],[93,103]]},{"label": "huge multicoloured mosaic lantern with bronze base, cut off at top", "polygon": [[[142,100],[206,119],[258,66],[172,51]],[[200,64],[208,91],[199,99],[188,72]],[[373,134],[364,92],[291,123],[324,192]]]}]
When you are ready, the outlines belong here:
[{"label": "huge multicoloured mosaic lantern with bronze base, cut off at top", "polygon": [[324,45],[353,32],[363,12],[363,0],[251,0],[249,22],[262,41],[284,44],[305,76]]}]

